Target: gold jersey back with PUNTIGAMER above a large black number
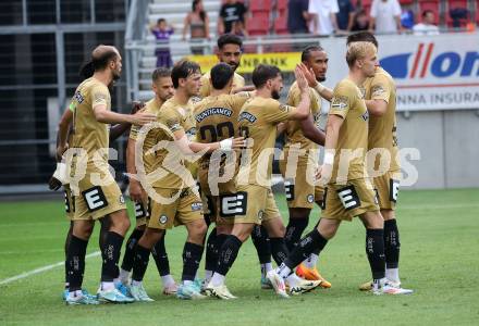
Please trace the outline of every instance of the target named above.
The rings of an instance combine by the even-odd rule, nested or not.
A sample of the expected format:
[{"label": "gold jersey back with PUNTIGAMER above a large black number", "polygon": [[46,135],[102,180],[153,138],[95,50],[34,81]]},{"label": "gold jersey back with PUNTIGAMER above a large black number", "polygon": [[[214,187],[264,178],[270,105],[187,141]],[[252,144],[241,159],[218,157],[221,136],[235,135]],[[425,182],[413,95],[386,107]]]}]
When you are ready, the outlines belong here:
[{"label": "gold jersey back with PUNTIGAMER above a large black number", "polygon": [[[237,117],[249,92],[236,95],[209,96],[195,104],[197,141],[202,143],[221,141],[237,136]],[[208,168],[209,154],[199,160],[202,168]]]}]

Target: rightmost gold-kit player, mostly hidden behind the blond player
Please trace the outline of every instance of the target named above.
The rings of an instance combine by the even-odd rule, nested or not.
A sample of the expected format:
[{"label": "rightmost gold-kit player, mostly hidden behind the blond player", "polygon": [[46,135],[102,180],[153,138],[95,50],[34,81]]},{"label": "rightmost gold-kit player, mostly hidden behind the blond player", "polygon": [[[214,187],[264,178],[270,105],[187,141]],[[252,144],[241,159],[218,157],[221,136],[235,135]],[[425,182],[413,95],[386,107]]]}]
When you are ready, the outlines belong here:
[{"label": "rightmost gold-kit player, mostly hidden behind the blond player", "polygon": [[[347,43],[367,41],[378,48],[376,37],[367,32],[352,34]],[[390,158],[386,171],[378,171],[380,161],[369,162],[374,173],[374,189],[378,195],[379,208],[384,218],[384,254],[385,277],[391,285],[401,287],[400,262],[400,231],[397,229],[395,208],[401,179],[401,166],[397,156],[396,137],[396,86],[391,75],[381,67],[377,67],[374,76],[367,78],[365,84],[366,106],[369,111],[368,150],[377,150],[383,158]],[[370,290],[372,283],[360,286],[361,290]]]}]

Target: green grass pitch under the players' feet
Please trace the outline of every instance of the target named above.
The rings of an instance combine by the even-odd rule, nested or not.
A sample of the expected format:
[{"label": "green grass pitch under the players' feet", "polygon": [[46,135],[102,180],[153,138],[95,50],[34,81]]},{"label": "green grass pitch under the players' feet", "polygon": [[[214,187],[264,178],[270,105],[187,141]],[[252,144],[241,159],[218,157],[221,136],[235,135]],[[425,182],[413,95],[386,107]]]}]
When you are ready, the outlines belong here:
[{"label": "green grass pitch under the players' feet", "polygon": [[[344,223],[320,258],[328,290],[290,300],[259,288],[250,241],[228,275],[234,301],[180,301],[161,296],[155,263],[145,279],[152,303],[66,306],[63,267],[0,285],[0,325],[478,325],[479,189],[403,191],[397,210],[401,276],[406,297],[357,290],[369,279],[365,231]],[[284,218],[284,197],[277,196]],[[63,260],[67,222],[59,201],[0,203],[0,281]],[[132,215],[132,210],[130,210]],[[315,209],[310,227],[317,222]],[[171,230],[167,249],[175,279],[181,275],[184,228]],[[98,227],[88,252],[98,250]],[[201,262],[202,269],[202,262]],[[87,260],[85,287],[96,291],[100,258]]]}]

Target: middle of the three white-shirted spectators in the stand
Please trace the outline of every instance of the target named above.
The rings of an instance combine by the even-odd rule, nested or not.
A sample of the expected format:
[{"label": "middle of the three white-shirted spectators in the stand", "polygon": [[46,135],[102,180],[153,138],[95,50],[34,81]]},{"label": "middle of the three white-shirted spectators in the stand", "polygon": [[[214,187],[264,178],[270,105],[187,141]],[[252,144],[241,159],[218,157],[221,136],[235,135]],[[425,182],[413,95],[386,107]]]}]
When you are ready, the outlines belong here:
[{"label": "middle of the three white-shirted spectators in the stand", "polygon": [[377,34],[393,34],[402,30],[401,4],[397,0],[372,0],[369,29]]}]

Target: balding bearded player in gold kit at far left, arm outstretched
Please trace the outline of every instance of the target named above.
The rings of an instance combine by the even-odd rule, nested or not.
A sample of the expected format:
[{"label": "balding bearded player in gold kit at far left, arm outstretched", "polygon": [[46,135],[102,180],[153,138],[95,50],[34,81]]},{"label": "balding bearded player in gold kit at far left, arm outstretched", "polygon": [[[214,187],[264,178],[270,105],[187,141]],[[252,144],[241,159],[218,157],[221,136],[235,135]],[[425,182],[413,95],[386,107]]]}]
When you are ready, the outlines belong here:
[{"label": "balding bearded player in gold kit at far left, arm outstretched", "polygon": [[[132,302],[114,286],[119,276],[118,262],[125,233],[130,227],[126,206],[119,186],[109,172],[107,124],[132,123],[143,125],[155,115],[120,114],[111,111],[109,86],[120,77],[122,62],[114,47],[99,46],[91,53],[94,75],[76,89],[73,136],[65,153],[70,163],[70,186],[74,196],[73,233],[66,263],[71,266],[67,304],[95,304],[82,292],[85,254],[95,220],[109,216],[110,227],[102,250],[101,286],[98,299],[108,302]],[[63,154],[63,153],[59,153]]]}]

